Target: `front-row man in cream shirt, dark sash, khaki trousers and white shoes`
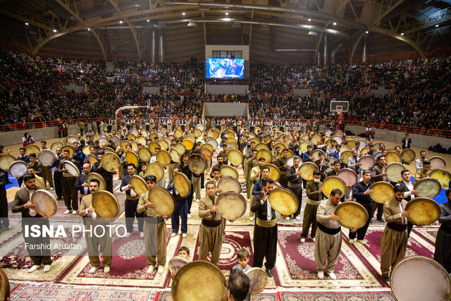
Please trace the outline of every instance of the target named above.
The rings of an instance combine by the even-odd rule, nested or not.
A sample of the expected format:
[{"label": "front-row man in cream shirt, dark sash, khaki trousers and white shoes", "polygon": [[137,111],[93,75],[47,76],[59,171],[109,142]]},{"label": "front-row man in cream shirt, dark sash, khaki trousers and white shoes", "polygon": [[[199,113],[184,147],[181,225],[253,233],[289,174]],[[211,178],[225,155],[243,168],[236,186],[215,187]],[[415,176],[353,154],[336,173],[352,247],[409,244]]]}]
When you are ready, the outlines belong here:
[{"label": "front-row man in cream shirt, dark sash, khaki trousers and white shoes", "polygon": [[[315,241],[315,262],[320,279],[324,278],[324,271],[330,279],[337,279],[333,271],[340,256],[342,233],[340,223],[338,223],[340,217],[335,215],[335,209],[337,209],[341,197],[341,190],[332,190],[329,199],[321,202],[316,211],[318,230]],[[355,232],[357,229],[351,231]],[[327,266],[326,259],[328,259]]]}]

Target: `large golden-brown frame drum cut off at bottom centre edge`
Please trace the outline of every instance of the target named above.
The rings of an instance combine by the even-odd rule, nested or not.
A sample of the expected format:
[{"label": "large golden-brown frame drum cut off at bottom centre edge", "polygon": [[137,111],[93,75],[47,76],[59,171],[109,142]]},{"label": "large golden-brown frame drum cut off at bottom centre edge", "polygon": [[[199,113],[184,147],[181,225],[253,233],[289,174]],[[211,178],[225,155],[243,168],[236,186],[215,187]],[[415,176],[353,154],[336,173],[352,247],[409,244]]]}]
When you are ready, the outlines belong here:
[{"label": "large golden-brown frame drum cut off at bottom centre edge", "polygon": [[190,262],[175,274],[171,295],[174,301],[227,300],[226,277],[218,266],[211,262]]}]

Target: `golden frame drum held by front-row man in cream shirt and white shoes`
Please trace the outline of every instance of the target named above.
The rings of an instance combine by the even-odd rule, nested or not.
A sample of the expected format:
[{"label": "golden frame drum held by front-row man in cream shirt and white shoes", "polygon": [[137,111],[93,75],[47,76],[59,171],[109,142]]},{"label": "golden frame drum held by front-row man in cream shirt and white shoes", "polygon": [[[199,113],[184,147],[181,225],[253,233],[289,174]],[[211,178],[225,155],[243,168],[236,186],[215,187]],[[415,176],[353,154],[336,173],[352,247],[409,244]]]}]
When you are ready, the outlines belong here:
[{"label": "golden frame drum held by front-row man in cream shirt and white shoes", "polygon": [[365,207],[352,201],[340,203],[335,209],[335,215],[340,216],[338,223],[348,229],[362,228],[368,221]]}]

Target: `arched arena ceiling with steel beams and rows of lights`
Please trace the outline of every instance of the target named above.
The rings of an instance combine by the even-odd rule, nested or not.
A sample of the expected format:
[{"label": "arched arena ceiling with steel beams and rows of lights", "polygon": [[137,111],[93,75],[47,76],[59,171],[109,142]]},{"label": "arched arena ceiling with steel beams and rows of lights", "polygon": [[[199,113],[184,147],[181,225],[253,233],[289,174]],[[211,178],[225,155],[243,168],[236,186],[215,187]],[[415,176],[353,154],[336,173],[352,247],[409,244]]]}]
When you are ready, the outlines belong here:
[{"label": "arched arena ceiling with steel beams and rows of lights", "polygon": [[425,57],[450,47],[450,3],[0,0],[0,42],[35,54],[106,61],[159,61],[161,53],[164,61],[204,59],[206,44],[238,44],[249,45],[251,60],[314,63],[324,56],[326,38],[329,62],[332,56],[361,56],[364,49],[366,54],[417,51]]}]

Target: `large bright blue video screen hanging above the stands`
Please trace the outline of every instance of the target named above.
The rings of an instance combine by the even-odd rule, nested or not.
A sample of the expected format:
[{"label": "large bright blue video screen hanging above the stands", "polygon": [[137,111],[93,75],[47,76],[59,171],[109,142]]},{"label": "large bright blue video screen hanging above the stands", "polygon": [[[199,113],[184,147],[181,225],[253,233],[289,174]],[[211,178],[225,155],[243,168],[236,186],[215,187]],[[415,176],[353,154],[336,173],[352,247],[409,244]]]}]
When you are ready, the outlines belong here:
[{"label": "large bright blue video screen hanging above the stands", "polygon": [[206,59],[206,78],[244,78],[244,59]]}]

